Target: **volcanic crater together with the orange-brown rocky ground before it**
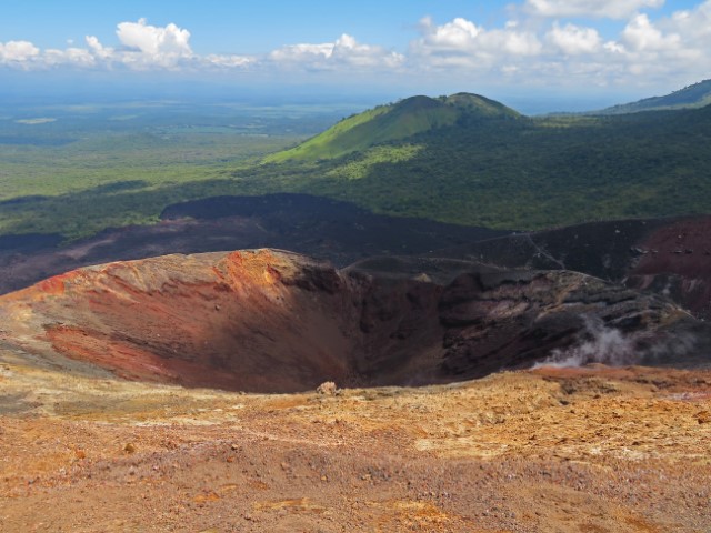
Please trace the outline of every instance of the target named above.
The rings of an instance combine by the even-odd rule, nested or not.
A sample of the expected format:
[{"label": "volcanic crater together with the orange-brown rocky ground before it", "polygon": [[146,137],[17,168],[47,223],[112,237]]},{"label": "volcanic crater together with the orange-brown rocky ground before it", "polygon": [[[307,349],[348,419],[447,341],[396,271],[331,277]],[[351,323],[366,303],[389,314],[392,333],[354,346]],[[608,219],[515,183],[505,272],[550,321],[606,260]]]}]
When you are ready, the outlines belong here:
[{"label": "volcanic crater together with the orange-brown rocky ground before it", "polygon": [[708,532],[709,339],[567,270],[81,269],[0,296],[0,531]]}]

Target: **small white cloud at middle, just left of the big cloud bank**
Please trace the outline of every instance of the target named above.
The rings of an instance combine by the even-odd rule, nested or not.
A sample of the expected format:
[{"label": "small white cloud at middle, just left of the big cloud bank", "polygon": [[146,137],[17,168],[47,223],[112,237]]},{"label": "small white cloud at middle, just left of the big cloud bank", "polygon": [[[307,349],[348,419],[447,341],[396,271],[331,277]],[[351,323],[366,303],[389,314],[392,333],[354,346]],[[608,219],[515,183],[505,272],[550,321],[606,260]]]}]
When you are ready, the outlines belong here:
[{"label": "small white cloud at middle, just left of the big cloud bank", "polygon": [[356,38],[343,33],[334,42],[320,44],[290,44],[269,54],[277,66],[312,70],[350,68],[395,68],[404,61],[400,53],[382,47],[359,43]]}]

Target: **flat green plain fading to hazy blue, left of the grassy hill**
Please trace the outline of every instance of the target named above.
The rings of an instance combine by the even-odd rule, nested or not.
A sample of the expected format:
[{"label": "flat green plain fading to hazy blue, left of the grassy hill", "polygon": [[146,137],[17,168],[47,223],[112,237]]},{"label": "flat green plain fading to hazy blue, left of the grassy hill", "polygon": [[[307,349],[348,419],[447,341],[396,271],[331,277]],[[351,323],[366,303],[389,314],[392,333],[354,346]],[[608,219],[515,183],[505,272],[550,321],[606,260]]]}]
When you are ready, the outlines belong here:
[{"label": "flat green plain fading to hazy blue, left of the grassy hill", "polygon": [[256,164],[322,130],[343,109],[303,108],[151,102],[0,109],[0,234],[73,239],[154,222],[173,202],[240,193],[226,169]]}]

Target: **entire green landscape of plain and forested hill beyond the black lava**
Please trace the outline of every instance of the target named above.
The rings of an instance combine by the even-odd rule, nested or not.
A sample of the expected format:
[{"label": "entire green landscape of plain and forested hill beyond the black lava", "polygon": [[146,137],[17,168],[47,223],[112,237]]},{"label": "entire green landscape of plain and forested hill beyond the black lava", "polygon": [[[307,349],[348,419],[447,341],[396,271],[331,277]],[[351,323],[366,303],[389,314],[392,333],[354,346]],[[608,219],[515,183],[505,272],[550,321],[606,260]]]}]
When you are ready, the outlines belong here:
[{"label": "entire green landscape of plain and forested hill beyond the black lava", "polygon": [[156,221],[179,201],[270,192],[520,230],[711,205],[711,107],[531,119],[472,94],[415,97],[291,149],[316,119],[123,109],[87,125],[73,113],[0,119],[0,233],[71,239]]}]

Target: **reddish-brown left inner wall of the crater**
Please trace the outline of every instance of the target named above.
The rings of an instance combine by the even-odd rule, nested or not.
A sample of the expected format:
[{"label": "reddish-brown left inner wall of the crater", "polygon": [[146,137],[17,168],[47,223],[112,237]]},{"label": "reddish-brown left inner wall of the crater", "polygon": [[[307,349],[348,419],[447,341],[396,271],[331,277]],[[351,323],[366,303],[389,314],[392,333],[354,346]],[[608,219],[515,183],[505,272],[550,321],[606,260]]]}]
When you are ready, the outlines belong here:
[{"label": "reddish-brown left inner wall of the crater", "polygon": [[[371,311],[380,324],[411,322],[420,350],[439,344],[435,301],[409,322],[400,292],[379,301],[364,280],[288,252],[167,255],[51,278],[0,299],[0,315],[20,322],[27,349],[46,353],[49,343],[126,379],[296,391],[358,383],[378,365],[370,352],[390,342],[363,338]],[[389,374],[405,359],[393,350],[402,369]]]}]

